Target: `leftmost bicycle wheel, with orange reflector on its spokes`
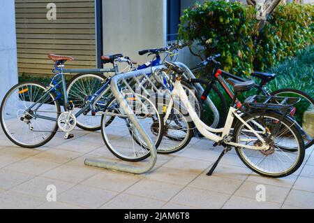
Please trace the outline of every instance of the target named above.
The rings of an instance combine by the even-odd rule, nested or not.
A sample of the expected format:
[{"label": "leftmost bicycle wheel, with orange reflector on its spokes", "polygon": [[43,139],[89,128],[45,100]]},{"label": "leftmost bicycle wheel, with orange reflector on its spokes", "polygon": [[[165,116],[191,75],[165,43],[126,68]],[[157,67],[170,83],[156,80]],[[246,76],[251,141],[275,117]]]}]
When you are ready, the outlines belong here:
[{"label": "leftmost bicycle wheel, with orange reflector on its spokes", "polygon": [[38,148],[57,133],[60,113],[56,96],[48,93],[44,85],[23,82],[12,87],[4,96],[1,104],[1,127],[16,145]]}]

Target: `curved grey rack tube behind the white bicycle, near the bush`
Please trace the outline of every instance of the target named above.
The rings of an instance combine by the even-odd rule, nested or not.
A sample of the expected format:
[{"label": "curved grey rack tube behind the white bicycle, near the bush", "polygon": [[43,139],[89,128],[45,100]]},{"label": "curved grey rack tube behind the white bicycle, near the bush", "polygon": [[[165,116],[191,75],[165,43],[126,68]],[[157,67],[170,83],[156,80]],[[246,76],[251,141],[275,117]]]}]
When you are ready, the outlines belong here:
[{"label": "curved grey rack tube behind the white bicycle, near the bush", "polygon": [[[186,78],[187,80],[190,78],[195,79],[195,75],[193,74],[192,71],[190,71],[190,69],[188,68],[188,66],[186,66],[186,64],[183,64],[181,62],[176,62],[175,64],[177,64],[178,66],[180,66],[182,69],[184,69],[186,71],[186,72],[184,72],[184,78]],[[204,92],[204,88],[200,84],[195,84],[195,90],[197,91],[198,94],[200,94],[200,92]],[[211,101],[211,99],[209,99],[209,97],[207,97],[206,103],[209,106],[209,108],[211,108],[212,112],[214,113],[214,122],[211,125],[211,127],[216,128],[216,127],[218,127],[219,120],[220,120],[220,115],[219,115],[218,109],[216,108],[213,101]]]}]

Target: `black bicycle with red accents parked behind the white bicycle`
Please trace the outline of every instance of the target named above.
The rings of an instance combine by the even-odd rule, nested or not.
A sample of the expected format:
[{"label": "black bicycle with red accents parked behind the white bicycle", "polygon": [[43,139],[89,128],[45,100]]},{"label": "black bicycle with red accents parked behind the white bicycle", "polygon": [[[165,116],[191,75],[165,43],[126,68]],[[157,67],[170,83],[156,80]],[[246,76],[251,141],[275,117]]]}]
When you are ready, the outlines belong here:
[{"label": "black bicycle with red accents parked behind the white bicycle", "polygon": [[[217,94],[216,92],[219,92],[216,82],[218,82],[220,86],[223,87],[223,89],[227,93],[227,97],[230,97],[230,99],[233,99],[234,92],[229,87],[229,85],[232,85],[232,86],[239,85],[243,82],[248,81],[248,79],[240,78],[236,75],[233,75],[231,73],[221,70],[220,62],[216,61],[216,58],[218,57],[220,57],[220,55],[213,55],[205,59],[203,62],[198,64],[194,69],[192,69],[194,71],[196,69],[201,69],[207,66],[209,63],[214,64],[214,71],[213,73],[211,73],[209,80],[190,78],[189,80],[186,80],[186,82],[188,82],[188,84],[192,86],[195,86],[196,84],[200,84],[204,86],[204,92],[200,92],[200,95],[202,95],[201,103],[204,106],[204,102],[206,101],[207,97],[209,97],[212,101],[214,101],[214,103],[216,104],[216,107],[219,109],[219,112],[220,112],[220,126],[223,126],[227,117],[227,100],[225,98],[222,99],[221,96],[213,95],[213,94]],[[303,111],[307,110],[311,106],[314,106],[314,99],[310,95],[298,89],[285,88],[285,89],[278,89],[275,92],[269,92],[266,86],[267,86],[267,83],[271,82],[272,80],[276,78],[276,74],[274,73],[253,72],[251,73],[251,76],[253,78],[256,78],[257,80],[260,80],[259,83],[255,84],[255,90],[257,91],[255,92],[255,94],[257,95],[262,94],[264,96],[281,96],[281,97],[288,96],[288,97],[298,97],[301,99],[300,102],[296,106],[294,106],[294,108],[291,110],[289,117],[290,119],[297,121],[297,124],[299,125],[299,128],[302,131],[301,134],[302,134],[302,137],[304,138],[305,148],[310,148],[314,144],[313,133],[306,131],[306,129],[303,129],[302,122],[303,122],[303,115],[304,115]],[[239,106],[241,106],[241,103],[239,103]],[[209,119],[211,118],[209,113],[207,113],[207,118]]]}]

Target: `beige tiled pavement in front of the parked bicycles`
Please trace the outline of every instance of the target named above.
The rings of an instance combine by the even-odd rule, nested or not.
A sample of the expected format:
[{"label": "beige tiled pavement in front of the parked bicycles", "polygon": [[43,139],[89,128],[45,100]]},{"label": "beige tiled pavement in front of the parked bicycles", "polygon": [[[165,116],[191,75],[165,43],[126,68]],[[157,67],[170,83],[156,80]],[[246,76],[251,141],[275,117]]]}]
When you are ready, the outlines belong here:
[{"label": "beige tiled pavement in front of the parked bicycles", "polygon": [[[262,178],[234,152],[208,177],[221,149],[193,139],[177,154],[159,155],[153,171],[132,175],[84,166],[87,157],[115,158],[100,133],[74,134],[27,150],[0,131],[0,208],[314,208],[313,149],[287,178]],[[57,202],[47,202],[48,185],[57,187]],[[265,202],[255,199],[258,185],[266,187]]]}]

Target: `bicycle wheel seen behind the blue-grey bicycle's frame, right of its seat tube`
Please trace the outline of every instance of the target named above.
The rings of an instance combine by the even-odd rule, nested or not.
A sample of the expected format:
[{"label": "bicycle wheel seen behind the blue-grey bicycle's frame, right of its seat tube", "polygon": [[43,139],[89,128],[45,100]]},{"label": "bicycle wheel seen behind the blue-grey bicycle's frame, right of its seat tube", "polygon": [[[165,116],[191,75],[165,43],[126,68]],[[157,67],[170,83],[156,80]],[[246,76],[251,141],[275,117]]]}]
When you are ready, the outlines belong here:
[{"label": "bicycle wheel seen behind the blue-grey bicycle's frame, right of its seat tube", "polygon": [[[105,83],[105,77],[100,74],[78,74],[68,82],[67,93],[68,100],[73,101],[75,105],[74,114],[86,105],[89,96],[95,94]],[[110,86],[108,86],[110,87]],[[96,105],[97,110],[105,108],[108,99],[107,95],[103,96]],[[84,113],[77,117],[77,127],[87,131],[100,130],[101,115],[92,113]]]}]

